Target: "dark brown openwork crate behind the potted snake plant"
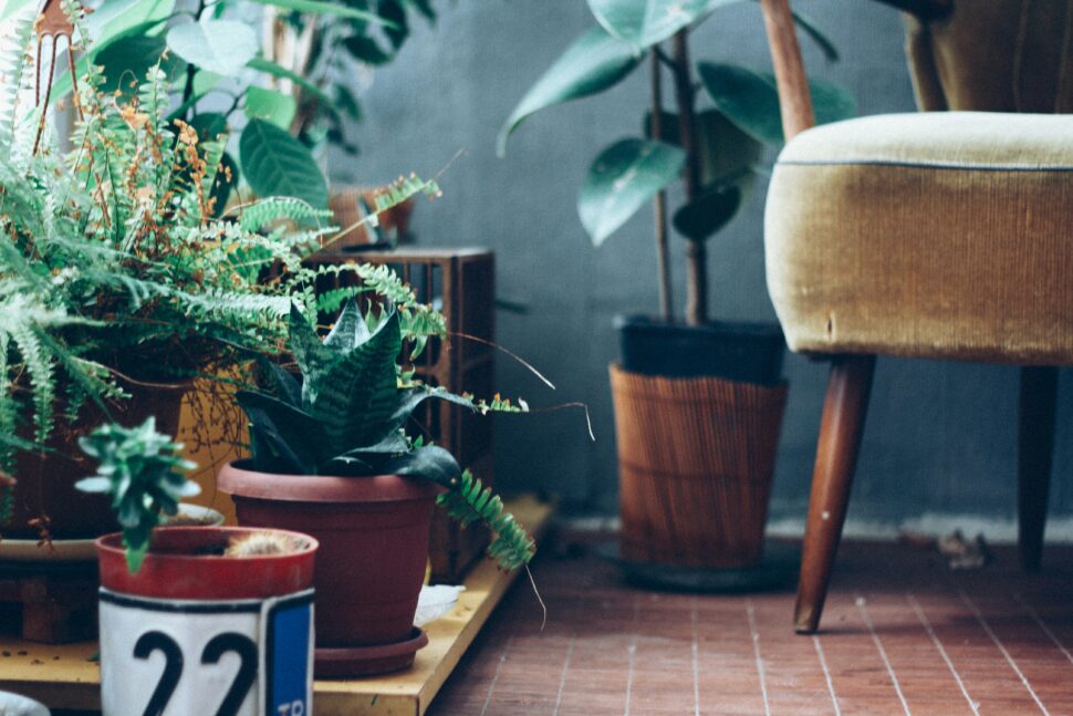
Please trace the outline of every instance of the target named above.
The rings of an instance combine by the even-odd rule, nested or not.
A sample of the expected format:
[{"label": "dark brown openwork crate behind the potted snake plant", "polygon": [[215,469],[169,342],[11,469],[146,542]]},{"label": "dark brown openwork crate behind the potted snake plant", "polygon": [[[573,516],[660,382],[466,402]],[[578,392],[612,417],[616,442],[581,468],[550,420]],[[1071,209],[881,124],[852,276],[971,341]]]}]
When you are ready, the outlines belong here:
[{"label": "dark brown openwork crate behind the potted snake plant", "polygon": [[[448,345],[429,341],[415,367],[430,385],[455,393],[490,398],[496,390],[493,350],[480,341],[496,338],[496,259],[487,249],[415,249],[338,251],[317,255],[313,264],[376,263],[390,266],[427,303],[437,303],[447,321]],[[338,283],[319,287],[338,288]],[[479,339],[475,341],[465,336]],[[444,401],[427,401],[417,417],[438,445],[486,485],[493,480],[492,421]],[[488,546],[489,535],[477,526],[459,529],[442,512],[433,523],[429,558],[433,579],[457,583]]]}]

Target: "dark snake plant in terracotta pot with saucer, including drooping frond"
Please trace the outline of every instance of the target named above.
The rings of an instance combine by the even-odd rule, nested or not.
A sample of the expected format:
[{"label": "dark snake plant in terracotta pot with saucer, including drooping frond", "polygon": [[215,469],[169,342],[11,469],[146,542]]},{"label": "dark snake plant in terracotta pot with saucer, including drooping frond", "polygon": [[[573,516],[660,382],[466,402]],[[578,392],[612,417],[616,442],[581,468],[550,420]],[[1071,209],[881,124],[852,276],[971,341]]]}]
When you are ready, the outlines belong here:
[{"label": "dark snake plant in terracotta pot with saucer, including drooping frond", "polygon": [[503,569],[534,552],[490,489],[446,449],[407,434],[415,408],[430,398],[510,408],[414,381],[397,363],[400,317],[389,303],[363,315],[350,301],[322,341],[294,308],[289,346],[301,382],[264,363],[269,390],[237,395],[252,458],[225,466],[219,486],[235,498],[240,523],[320,541],[317,676],[405,668],[427,643],[414,613],[437,502],[463,523],[485,522],[496,535],[489,554]]}]

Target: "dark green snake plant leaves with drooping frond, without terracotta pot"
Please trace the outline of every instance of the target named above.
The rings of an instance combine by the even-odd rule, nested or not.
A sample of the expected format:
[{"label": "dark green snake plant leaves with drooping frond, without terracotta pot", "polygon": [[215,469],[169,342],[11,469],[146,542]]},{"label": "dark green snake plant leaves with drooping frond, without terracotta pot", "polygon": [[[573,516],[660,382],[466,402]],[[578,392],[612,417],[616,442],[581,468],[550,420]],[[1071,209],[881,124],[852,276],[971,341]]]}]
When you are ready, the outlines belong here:
[{"label": "dark green snake plant leaves with drooping frond, without terracotta pot", "polygon": [[289,334],[302,381],[265,362],[271,392],[237,395],[251,423],[254,469],[430,480],[447,488],[439,502],[452,517],[463,525],[482,521],[496,532],[488,552],[502,568],[514,569],[532,559],[533,540],[503,512],[491,490],[463,474],[446,449],[406,434],[410,416],[426,399],[477,411],[489,406],[400,374],[396,360],[403,333],[393,305],[362,315],[356,302],[348,301],[323,341],[293,308]]}]

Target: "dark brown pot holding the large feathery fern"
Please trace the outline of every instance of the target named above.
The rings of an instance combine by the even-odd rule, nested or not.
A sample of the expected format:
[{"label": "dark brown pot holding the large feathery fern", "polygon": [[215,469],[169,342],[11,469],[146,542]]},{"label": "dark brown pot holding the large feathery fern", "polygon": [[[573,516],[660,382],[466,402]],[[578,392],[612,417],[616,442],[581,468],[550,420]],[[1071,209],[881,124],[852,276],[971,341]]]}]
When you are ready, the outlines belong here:
[{"label": "dark brown pot holding the large feathery fern", "polygon": [[[157,430],[176,435],[179,407],[190,385],[124,388],[131,397],[112,411],[116,421],[139,425],[154,415]],[[74,487],[94,471],[92,460],[79,449],[79,437],[106,422],[108,418],[93,404],[85,405],[74,425],[67,425],[58,414],[55,432],[49,440],[55,454],[18,454],[14,509],[11,519],[0,525],[0,533],[12,539],[37,538],[38,530],[28,522],[41,516],[49,518],[49,530],[56,539],[98,537],[119,528],[107,496],[88,495]]]}]

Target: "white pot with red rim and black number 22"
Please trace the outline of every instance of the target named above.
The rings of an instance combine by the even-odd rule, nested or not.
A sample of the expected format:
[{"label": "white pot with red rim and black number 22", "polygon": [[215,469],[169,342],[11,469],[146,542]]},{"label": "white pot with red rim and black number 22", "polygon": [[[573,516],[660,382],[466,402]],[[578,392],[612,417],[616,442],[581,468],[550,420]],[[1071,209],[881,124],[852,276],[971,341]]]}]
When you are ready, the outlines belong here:
[{"label": "white pot with red rim and black number 22", "polygon": [[136,573],[122,535],[96,541],[105,714],[313,713],[316,540],[271,530],[287,551],[223,554],[259,531],[158,528]]}]

